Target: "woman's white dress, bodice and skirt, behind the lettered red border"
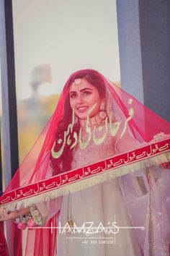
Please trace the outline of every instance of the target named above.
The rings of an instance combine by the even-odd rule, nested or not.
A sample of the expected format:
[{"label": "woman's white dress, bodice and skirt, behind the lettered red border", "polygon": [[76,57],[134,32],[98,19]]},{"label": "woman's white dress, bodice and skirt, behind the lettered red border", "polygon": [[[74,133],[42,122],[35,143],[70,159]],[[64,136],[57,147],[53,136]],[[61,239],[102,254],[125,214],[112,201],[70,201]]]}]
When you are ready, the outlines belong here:
[{"label": "woman's white dress, bodice and skirt, behind the lettered red border", "polygon": [[[71,168],[78,168],[114,155],[112,136],[109,132],[107,134],[101,145],[94,145],[91,140],[86,149],[78,148],[73,153]],[[57,256],[142,255],[135,230],[128,229],[132,225],[120,190],[120,178],[64,195],[58,220],[61,226],[66,226],[69,214],[76,226],[83,226],[87,222],[94,222],[93,227],[99,226],[99,223],[103,226],[112,226],[116,221],[116,225],[124,229],[119,229],[117,234],[91,234],[89,238],[83,233],[61,234],[60,231],[59,234],[58,230]]]}]

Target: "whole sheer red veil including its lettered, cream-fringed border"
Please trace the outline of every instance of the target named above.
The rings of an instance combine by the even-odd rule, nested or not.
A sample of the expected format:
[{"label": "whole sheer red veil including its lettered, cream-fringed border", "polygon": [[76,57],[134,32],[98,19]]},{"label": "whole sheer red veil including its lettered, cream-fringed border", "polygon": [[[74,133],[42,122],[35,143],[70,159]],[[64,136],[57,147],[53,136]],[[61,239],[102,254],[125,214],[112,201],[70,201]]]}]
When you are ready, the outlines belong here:
[{"label": "whole sheer red veil including its lettered, cream-fringed border", "polygon": [[[80,136],[81,127],[71,111],[68,93],[72,83],[82,78],[91,85],[97,84],[99,90],[104,88],[104,96],[107,99],[105,126],[107,132],[113,137],[115,150],[112,155],[106,154],[103,159],[99,158],[95,163],[91,158],[91,161],[85,163],[84,166],[73,168],[71,167],[73,144],[76,140],[80,144],[81,140],[77,137]],[[93,138],[91,136],[91,140]],[[45,207],[50,210],[48,217],[45,217],[44,225],[50,226],[53,223],[53,226],[56,226],[61,209],[61,196],[121,176],[120,187],[127,203],[128,212],[132,216],[133,225],[138,226],[137,214],[141,225],[146,216],[146,213],[143,213],[143,216],[139,218],[139,213],[135,211],[135,208],[138,208],[139,196],[131,196],[132,193],[135,193],[132,189],[132,182],[133,184],[138,182],[140,185],[144,184],[146,189],[146,192],[143,192],[144,196],[140,197],[142,198],[140,208],[147,208],[149,204],[150,210],[161,209],[161,213],[163,213],[164,207],[164,216],[167,219],[164,226],[166,226],[169,223],[167,215],[170,210],[170,202],[166,200],[170,196],[169,189],[167,189],[169,172],[161,167],[158,169],[156,166],[170,161],[169,141],[170,124],[168,121],[154,114],[99,72],[93,69],[74,72],[63,88],[53,116],[6,187],[4,195],[1,197],[1,207],[14,210],[35,204],[43,215],[42,208],[45,203]],[[82,151],[84,147],[88,147],[88,145],[82,145]],[[138,177],[139,170],[144,170],[142,178]],[[164,189],[158,188],[153,193],[147,184],[148,176],[149,186],[155,189],[160,182],[161,186],[164,184]],[[159,177],[161,178],[159,179]],[[129,187],[124,186],[125,180]],[[153,198],[152,204],[151,197]],[[163,200],[163,205],[160,205],[160,198]],[[135,205],[135,207],[130,205]],[[160,219],[159,222],[161,223]],[[149,227],[149,221],[146,223]],[[145,237],[140,232],[137,234],[144,255],[149,255],[151,249],[148,242],[149,232],[148,229]],[[161,246],[165,239],[166,244],[168,243],[169,230],[163,231],[163,233],[160,235],[161,237],[154,236],[156,242]],[[55,255],[56,229],[52,234],[50,229],[28,230],[26,244],[25,255]],[[14,255],[17,255],[17,252]]]}]

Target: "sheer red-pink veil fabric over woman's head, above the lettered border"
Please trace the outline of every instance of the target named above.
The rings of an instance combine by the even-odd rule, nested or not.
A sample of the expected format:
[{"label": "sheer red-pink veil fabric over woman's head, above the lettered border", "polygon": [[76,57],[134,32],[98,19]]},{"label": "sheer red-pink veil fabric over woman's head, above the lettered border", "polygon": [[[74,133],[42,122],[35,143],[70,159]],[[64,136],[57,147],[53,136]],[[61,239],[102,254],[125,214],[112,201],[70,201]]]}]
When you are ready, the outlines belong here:
[{"label": "sheer red-pink veil fabric over woman's head, above the lettered border", "polygon": [[[68,104],[67,98],[71,82],[73,82],[76,77],[82,77],[84,73],[88,72],[93,72],[93,70],[85,69],[83,71],[75,72],[69,77],[63,89],[63,93],[61,93],[58,106],[56,107],[53,116],[51,116],[48,124],[37,138],[35,145],[33,145],[32,150],[30,150],[26,158],[24,158],[24,161],[19,166],[19,169],[4,192],[40,181],[53,175],[50,173],[50,155],[47,155],[47,153],[52,148],[54,140],[56,138],[58,139],[59,123],[63,119],[64,106]],[[133,133],[133,137],[137,138],[140,142],[150,142],[153,139],[153,136],[160,132],[164,132],[166,135],[170,134],[170,125],[168,121],[165,121],[160,116],[154,114],[132,95],[125,93],[121,88],[117,87],[117,85],[109,85],[109,82],[107,82],[99,72],[97,72],[97,74],[112,95],[115,117],[119,121],[122,121],[122,123],[125,122],[125,119],[129,116],[128,110],[130,109],[130,105],[128,104],[128,100],[130,98],[133,99],[135,115],[133,116],[133,119],[129,121],[130,132]],[[68,118],[68,123],[71,123],[71,116]],[[134,148],[134,145],[132,145],[132,149]]]}]

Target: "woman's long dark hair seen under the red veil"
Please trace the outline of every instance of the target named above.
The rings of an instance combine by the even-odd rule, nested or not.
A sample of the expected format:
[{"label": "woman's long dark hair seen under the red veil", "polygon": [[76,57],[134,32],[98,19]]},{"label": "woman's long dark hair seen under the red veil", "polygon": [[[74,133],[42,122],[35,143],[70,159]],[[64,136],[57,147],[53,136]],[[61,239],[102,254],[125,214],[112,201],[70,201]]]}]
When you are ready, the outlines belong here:
[{"label": "woman's long dark hair seen under the red veil", "polygon": [[[91,85],[93,85],[95,88],[97,88],[100,98],[105,98],[106,88],[104,85],[104,81],[102,80],[102,77],[100,76],[100,74],[97,71],[92,70],[92,69],[85,69],[85,70],[80,70],[79,72],[76,72],[76,74],[72,75],[69,78],[64,90],[67,91],[71,87],[72,82],[75,79],[79,79],[79,78],[86,80]],[[64,106],[63,113],[64,113],[63,119],[59,123],[56,140],[59,140],[60,138],[63,139],[63,133],[64,133],[64,131],[66,131],[68,124],[71,123],[72,109],[70,106],[69,97],[66,98],[66,103]],[[79,129],[80,129],[79,124],[75,125],[73,127],[73,132],[79,133]],[[73,132],[72,132],[71,136],[73,136]],[[59,147],[61,147],[61,146],[59,146],[58,143],[55,143],[54,150],[58,151],[60,149]],[[51,160],[51,166],[54,169],[54,174],[59,174],[61,172],[69,171],[71,169],[71,161],[73,158],[72,151],[73,151],[73,149],[71,150],[70,146],[66,145],[60,158],[55,159],[51,155],[50,160]]]}]

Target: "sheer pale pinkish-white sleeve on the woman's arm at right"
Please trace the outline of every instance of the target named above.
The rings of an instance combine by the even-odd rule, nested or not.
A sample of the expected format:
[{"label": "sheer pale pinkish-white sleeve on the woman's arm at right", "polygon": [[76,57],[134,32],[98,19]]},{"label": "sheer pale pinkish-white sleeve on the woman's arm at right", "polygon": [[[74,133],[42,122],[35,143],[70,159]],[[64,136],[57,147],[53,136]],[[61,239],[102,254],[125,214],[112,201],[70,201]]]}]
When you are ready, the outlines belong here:
[{"label": "sheer pale pinkish-white sleeve on the woman's arm at right", "polygon": [[[116,153],[147,145],[146,142],[135,140],[128,130],[121,139],[120,134],[117,135],[115,137]],[[134,176],[136,174],[143,176]],[[160,164],[121,176],[120,179],[120,188],[130,221],[135,227],[144,227],[145,231],[142,229],[135,231],[143,254],[146,256],[169,255],[169,182],[169,171],[162,168]]]}]

